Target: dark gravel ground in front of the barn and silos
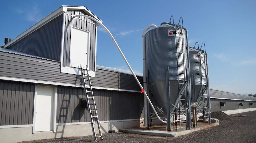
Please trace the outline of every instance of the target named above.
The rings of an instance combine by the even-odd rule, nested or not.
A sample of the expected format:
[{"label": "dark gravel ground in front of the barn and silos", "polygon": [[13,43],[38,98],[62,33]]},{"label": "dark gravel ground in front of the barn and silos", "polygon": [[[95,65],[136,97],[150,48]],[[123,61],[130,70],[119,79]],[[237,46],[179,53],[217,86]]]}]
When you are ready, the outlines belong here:
[{"label": "dark gravel ground in front of the barn and silos", "polygon": [[[103,142],[256,142],[256,111],[240,113],[244,117],[230,117],[228,120],[220,121],[219,126],[205,130],[193,132],[191,134],[176,138],[138,135],[129,133],[103,134]],[[73,143],[73,142],[92,142],[93,136],[69,137],[61,139],[46,139],[27,141],[25,143]]]}]

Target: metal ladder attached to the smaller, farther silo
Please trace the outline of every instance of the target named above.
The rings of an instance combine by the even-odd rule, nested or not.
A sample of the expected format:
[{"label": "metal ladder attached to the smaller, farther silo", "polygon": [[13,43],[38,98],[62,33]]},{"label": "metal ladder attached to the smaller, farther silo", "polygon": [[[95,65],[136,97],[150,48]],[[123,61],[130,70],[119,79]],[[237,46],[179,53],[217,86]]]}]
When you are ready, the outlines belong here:
[{"label": "metal ladder attached to the smaller, farther silo", "polygon": [[[208,94],[208,86],[207,86],[207,83],[206,83],[206,65],[205,65],[205,51],[204,51],[204,61],[202,63],[202,60],[201,60],[201,49],[202,49],[202,46],[201,48],[199,49],[198,47],[198,52],[199,52],[199,62],[200,62],[200,77],[201,77],[201,83],[202,83],[202,99],[203,99],[203,120],[204,120],[204,123],[208,122],[210,123],[210,112],[209,112],[209,94]],[[205,84],[203,84],[203,76],[202,76],[202,64],[204,64],[204,71],[205,71]]]}]

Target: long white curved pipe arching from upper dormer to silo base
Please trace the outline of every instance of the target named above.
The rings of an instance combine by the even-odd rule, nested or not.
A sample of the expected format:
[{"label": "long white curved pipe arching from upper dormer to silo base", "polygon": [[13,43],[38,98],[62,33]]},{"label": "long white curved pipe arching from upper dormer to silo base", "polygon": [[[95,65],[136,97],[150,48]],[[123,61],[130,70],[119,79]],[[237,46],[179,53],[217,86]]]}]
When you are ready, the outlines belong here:
[{"label": "long white curved pipe arching from upper dormer to silo base", "polygon": [[[130,64],[129,64],[128,61],[126,60],[126,58],[125,58],[123,52],[121,51],[120,47],[118,46],[117,42],[115,41],[114,36],[110,33],[110,31],[108,30],[108,28],[105,27],[105,25],[103,25],[101,22],[99,22],[99,21],[96,20],[95,18],[93,18],[93,17],[91,17],[91,16],[88,16],[88,15],[79,14],[79,15],[73,16],[72,18],[76,18],[76,17],[79,17],[79,16],[88,17],[88,18],[92,19],[93,21],[95,21],[95,22],[97,22],[99,25],[101,25],[101,26],[108,32],[109,36],[110,36],[110,37],[112,38],[112,40],[114,41],[115,46],[116,46],[117,49],[119,50],[120,54],[123,56],[123,58],[124,58],[124,60],[125,60],[125,62],[126,62],[126,64],[127,64],[127,66],[129,67],[130,71],[132,72],[132,75],[134,76],[135,80],[136,80],[137,83],[139,84],[139,86],[140,86],[140,88],[141,88],[141,92],[144,92],[144,95],[146,96],[146,98],[147,98],[149,104],[151,105],[152,109],[154,110],[155,115],[157,116],[157,118],[158,118],[161,122],[167,123],[166,121],[162,120],[162,119],[159,117],[159,115],[158,115],[157,111],[155,110],[155,108],[154,108],[152,102],[150,101],[150,99],[149,99],[149,97],[148,97],[146,91],[145,91],[144,88],[142,87],[140,81],[139,81],[138,78],[136,77],[136,75],[135,75],[135,73],[133,72],[133,70],[132,70]],[[145,119],[144,119],[144,120],[145,120]]]}]

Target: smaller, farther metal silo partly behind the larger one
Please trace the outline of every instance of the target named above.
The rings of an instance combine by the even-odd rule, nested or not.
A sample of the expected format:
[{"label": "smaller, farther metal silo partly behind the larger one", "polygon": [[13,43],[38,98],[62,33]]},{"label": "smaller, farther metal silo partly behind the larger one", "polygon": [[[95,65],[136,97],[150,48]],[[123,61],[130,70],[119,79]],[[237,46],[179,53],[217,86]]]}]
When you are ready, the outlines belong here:
[{"label": "smaller, farther metal silo partly behind the larger one", "polygon": [[[201,52],[201,54],[199,54],[199,51]],[[200,58],[199,55],[201,55],[201,62],[203,64],[201,64],[200,66]],[[190,56],[190,75],[191,75],[191,80],[193,80],[192,76],[194,75],[194,85],[192,85],[191,88],[191,100],[192,102],[198,102],[201,100],[202,98],[202,83],[203,85],[206,85],[206,77],[205,77],[205,72],[207,73],[206,68],[205,68],[205,57],[206,54],[204,52],[204,50],[198,50],[196,48],[192,48],[189,47],[189,56]],[[202,68],[202,73],[200,68]],[[201,77],[202,74],[202,77]],[[193,83],[193,81],[191,82]],[[203,91],[204,93],[206,87],[204,87]]]}]

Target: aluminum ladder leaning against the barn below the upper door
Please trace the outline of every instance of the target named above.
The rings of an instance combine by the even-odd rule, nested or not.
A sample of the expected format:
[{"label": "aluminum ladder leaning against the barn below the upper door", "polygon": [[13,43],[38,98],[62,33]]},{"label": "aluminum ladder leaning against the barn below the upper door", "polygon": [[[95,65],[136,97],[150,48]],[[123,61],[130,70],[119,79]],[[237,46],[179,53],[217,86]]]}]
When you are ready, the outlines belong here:
[{"label": "aluminum ladder leaning against the barn below the upper door", "polygon": [[[86,69],[85,69],[86,74],[84,74],[84,72],[83,72],[82,65],[80,65],[80,70],[81,70],[81,76],[82,76],[82,81],[83,81],[83,85],[84,85],[84,91],[85,91],[85,95],[86,95],[86,99],[87,99],[87,107],[89,109],[90,117],[91,117],[91,126],[92,126],[93,136],[94,136],[95,141],[97,141],[97,138],[101,138],[101,141],[102,141],[103,137],[102,137],[102,133],[101,133],[101,127],[99,124],[99,118],[98,118],[96,104],[95,104],[95,100],[94,100],[94,96],[93,96],[92,84],[91,84],[90,76],[88,73],[88,68],[86,66]],[[85,79],[85,77],[87,77],[87,79]],[[86,81],[89,83],[88,85],[86,85]],[[90,88],[89,91],[87,90],[87,87]],[[96,125],[98,127],[98,129],[95,129],[94,125]],[[96,136],[97,131],[99,133],[99,136]]]}]

